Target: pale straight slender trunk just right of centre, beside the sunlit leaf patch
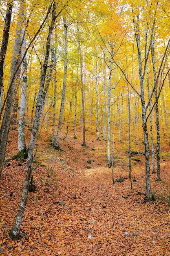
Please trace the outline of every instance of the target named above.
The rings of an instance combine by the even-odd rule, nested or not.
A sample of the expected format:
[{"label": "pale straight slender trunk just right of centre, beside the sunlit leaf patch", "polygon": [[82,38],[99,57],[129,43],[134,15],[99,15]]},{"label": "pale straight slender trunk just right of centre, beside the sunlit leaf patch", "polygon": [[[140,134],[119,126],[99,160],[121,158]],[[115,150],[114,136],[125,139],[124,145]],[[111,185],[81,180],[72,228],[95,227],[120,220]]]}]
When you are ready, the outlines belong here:
[{"label": "pale straight slender trunk just right of centre, beside the sunlit leaf patch", "polygon": [[110,94],[111,94],[111,78],[112,78],[112,68],[113,68],[113,44],[110,44],[111,47],[111,60],[110,60],[110,74],[108,78],[108,145],[107,145],[107,153],[108,153],[108,166],[111,167],[111,157],[110,157],[110,141],[111,141],[111,126],[110,126]]}]

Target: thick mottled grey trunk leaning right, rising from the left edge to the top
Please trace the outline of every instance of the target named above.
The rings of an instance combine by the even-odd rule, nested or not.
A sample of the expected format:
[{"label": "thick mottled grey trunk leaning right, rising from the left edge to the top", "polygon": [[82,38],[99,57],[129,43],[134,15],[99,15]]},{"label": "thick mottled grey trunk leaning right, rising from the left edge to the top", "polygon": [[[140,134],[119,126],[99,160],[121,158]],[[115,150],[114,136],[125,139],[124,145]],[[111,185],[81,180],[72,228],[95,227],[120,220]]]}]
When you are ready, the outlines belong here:
[{"label": "thick mottled grey trunk leaning right, rising from the left edge to the top", "polygon": [[17,56],[20,56],[21,46],[22,46],[22,29],[21,29],[22,18],[21,17],[23,16],[23,13],[24,13],[23,3],[24,3],[24,0],[21,0],[20,13],[19,13],[19,18],[17,23],[17,30],[16,30],[16,37],[15,37],[15,43],[14,43],[12,65],[11,65],[11,77],[9,81],[9,85],[10,85],[9,96],[7,98],[7,104],[4,110],[4,115],[3,115],[2,124],[0,128],[0,177],[1,177],[2,169],[4,167],[7,138],[9,133],[10,121],[11,121],[13,96],[15,92],[15,83],[12,82],[12,79],[17,68],[17,63],[18,63]]}]

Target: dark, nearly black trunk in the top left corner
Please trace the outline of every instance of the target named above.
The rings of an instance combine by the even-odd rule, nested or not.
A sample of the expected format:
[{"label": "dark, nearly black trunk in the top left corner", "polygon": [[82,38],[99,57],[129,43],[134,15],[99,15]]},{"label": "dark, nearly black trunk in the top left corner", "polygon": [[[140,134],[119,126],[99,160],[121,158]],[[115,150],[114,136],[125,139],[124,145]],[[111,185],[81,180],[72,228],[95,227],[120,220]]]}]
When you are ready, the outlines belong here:
[{"label": "dark, nearly black trunk in the top left corner", "polygon": [[1,50],[0,50],[0,95],[1,95],[2,88],[3,88],[4,59],[5,59],[5,55],[7,53],[9,29],[10,29],[10,25],[11,25],[12,6],[13,6],[13,1],[8,0],[7,11],[6,11],[6,16],[5,16],[4,32],[3,32],[3,37],[2,37],[2,46],[1,46]]}]

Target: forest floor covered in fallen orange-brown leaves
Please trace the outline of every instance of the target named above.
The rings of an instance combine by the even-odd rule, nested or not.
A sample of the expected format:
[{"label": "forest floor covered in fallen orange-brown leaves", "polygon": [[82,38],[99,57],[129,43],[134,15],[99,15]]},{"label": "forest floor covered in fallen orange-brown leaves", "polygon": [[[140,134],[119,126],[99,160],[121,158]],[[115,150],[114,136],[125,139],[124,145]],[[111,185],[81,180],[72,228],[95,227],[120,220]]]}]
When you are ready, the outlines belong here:
[{"label": "forest floor covered in fallen orange-brown leaves", "polygon": [[[67,136],[60,141],[64,152],[59,152],[53,150],[49,132],[41,132],[33,164],[36,191],[28,195],[16,241],[9,238],[9,231],[18,212],[26,163],[6,163],[0,180],[0,255],[170,255],[170,149],[161,153],[163,181],[155,182],[156,174],[151,175],[157,201],[145,203],[144,155],[133,155],[132,176],[139,182],[132,182],[130,190],[128,154],[116,150],[118,144],[114,177],[123,176],[125,181],[113,185],[106,142],[87,132],[87,146],[81,143],[81,134],[77,139]],[[7,158],[17,148],[17,133],[12,130]]]}]

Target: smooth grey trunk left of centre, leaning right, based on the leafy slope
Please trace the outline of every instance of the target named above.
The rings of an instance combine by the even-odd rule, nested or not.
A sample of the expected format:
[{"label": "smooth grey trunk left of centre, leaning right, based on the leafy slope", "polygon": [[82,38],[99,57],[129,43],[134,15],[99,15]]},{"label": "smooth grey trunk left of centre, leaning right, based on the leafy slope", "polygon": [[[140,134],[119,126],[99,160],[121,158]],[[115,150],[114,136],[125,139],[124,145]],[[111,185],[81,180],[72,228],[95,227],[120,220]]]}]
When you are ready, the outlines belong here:
[{"label": "smooth grey trunk left of centre, leaning right, based on the leafy slope", "polygon": [[66,24],[66,20],[64,19],[64,36],[65,36],[65,43],[64,43],[64,79],[63,79],[63,88],[62,88],[62,101],[60,106],[60,117],[58,121],[58,129],[57,129],[57,136],[54,143],[54,148],[60,150],[59,140],[60,140],[60,133],[62,128],[62,118],[64,112],[64,101],[65,101],[65,94],[66,94],[66,79],[67,79],[67,48],[68,48],[68,40],[67,40],[67,28],[68,25]]}]

